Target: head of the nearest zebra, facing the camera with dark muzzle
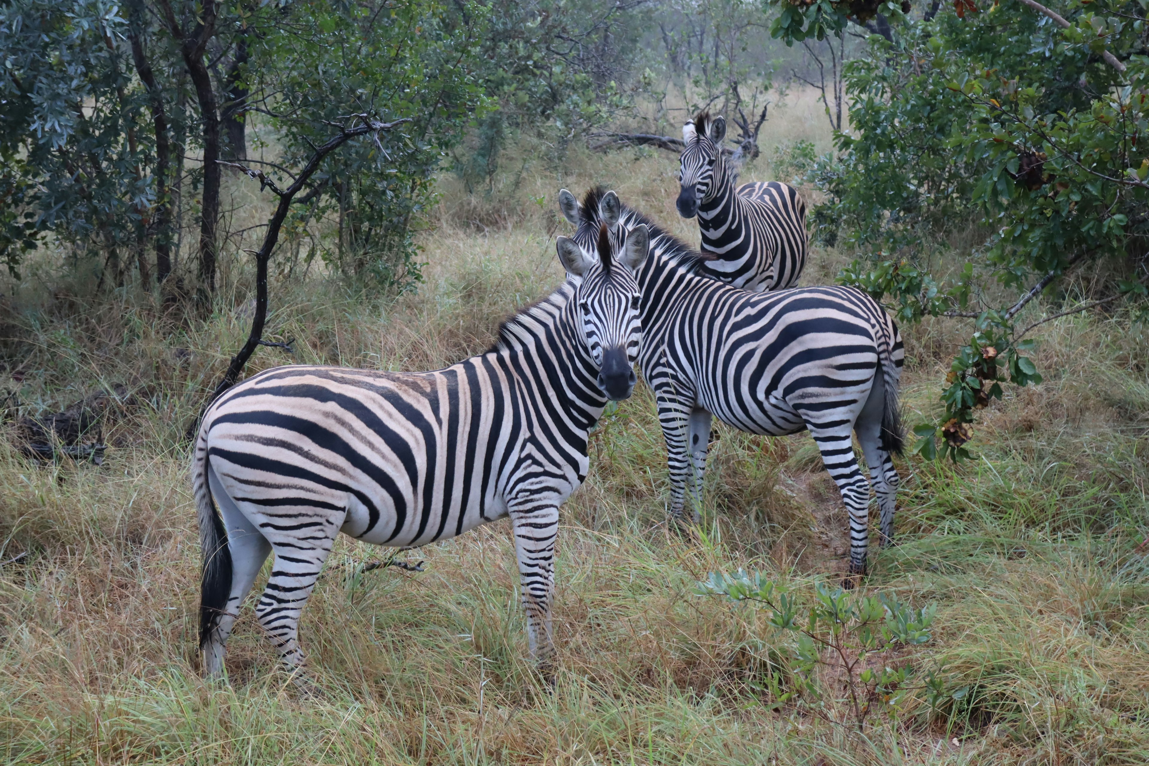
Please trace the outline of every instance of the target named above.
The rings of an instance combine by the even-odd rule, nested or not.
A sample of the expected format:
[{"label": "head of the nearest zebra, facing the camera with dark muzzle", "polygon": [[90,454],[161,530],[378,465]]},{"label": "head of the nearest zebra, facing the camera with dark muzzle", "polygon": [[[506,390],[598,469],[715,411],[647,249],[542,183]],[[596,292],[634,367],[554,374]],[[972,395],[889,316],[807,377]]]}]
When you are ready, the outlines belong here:
[{"label": "head of the nearest zebra, facing the camera with dark muzzle", "polygon": [[611,246],[610,231],[601,223],[591,254],[568,237],[556,242],[563,268],[578,280],[573,303],[587,350],[599,367],[599,388],[615,402],[634,390],[634,363],[642,342],[641,293],[634,272],[646,260],[650,235],[646,226],[639,229],[629,232],[626,243],[618,248]]}]

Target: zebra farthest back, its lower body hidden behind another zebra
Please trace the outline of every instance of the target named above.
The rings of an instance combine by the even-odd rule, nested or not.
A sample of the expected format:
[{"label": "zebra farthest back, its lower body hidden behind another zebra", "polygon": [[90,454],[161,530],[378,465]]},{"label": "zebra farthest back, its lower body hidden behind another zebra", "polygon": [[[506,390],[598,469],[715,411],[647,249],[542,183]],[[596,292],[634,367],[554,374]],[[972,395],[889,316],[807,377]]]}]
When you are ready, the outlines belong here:
[{"label": "zebra farthest back, its lower body hidden behind another zebra", "polygon": [[753,292],[793,287],[805,266],[805,200],[789,184],[759,181],[737,189],[735,169],[723,154],[726,119],[699,114],[683,126],[676,207],[699,218],[699,270]]}]

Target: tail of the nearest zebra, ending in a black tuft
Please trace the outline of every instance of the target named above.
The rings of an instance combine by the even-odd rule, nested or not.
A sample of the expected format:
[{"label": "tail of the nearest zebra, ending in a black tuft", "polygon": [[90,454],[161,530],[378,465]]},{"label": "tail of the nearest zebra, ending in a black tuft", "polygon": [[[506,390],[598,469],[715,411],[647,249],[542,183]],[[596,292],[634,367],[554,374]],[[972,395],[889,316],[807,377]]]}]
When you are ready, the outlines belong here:
[{"label": "tail of the nearest zebra, ending in a black tuft", "polygon": [[195,442],[195,461],[192,466],[192,488],[195,493],[195,511],[200,523],[200,649],[219,626],[219,618],[228,608],[231,596],[231,550],[228,548],[228,529],[219,517],[208,483],[208,430],[200,426]]}]

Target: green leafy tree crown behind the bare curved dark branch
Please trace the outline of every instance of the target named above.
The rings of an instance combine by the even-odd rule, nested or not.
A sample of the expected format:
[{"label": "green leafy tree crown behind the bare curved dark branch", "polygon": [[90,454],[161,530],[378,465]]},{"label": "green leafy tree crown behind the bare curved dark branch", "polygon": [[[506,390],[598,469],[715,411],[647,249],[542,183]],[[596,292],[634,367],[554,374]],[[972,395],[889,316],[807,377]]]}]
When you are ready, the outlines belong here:
[{"label": "green leafy tree crown behind the bare curved dark branch", "polygon": [[[433,173],[485,103],[476,71],[483,7],[458,23],[446,2],[292,6],[255,55],[290,165],[337,129],[340,117],[411,117],[378,141],[360,140],[314,177],[315,208],[338,216],[327,260],[347,274],[402,288],[419,279],[414,233],[434,202]],[[354,42],[353,42],[354,41]]]}]

